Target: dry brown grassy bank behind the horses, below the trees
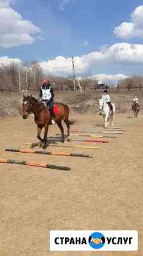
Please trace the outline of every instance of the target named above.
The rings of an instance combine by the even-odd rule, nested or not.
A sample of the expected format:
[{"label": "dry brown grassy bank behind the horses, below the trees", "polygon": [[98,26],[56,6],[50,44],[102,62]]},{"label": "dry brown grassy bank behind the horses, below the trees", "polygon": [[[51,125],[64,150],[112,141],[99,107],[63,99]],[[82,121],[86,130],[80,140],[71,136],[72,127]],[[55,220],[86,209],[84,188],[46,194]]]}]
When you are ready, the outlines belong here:
[{"label": "dry brown grassy bank behind the horses, below the trees", "polygon": [[[130,110],[133,96],[136,92],[110,92],[111,101],[116,105],[117,113],[126,113]],[[137,91],[140,108],[143,107],[142,92]],[[37,97],[38,92],[33,96]],[[70,107],[71,113],[95,114],[98,112],[98,98],[102,92],[89,90],[85,92],[55,92],[55,101],[63,102]],[[0,93],[0,117],[8,117],[22,114],[22,94]]]}]

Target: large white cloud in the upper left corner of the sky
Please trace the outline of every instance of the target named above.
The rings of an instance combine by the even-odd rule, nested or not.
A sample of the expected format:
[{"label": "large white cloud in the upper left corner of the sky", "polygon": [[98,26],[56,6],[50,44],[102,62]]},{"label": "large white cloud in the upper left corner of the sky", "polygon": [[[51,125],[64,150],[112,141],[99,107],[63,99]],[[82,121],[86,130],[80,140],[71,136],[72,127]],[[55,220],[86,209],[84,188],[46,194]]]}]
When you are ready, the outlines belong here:
[{"label": "large white cloud in the upper left corner of the sky", "polygon": [[0,47],[33,44],[41,29],[10,7],[13,0],[0,0]]}]

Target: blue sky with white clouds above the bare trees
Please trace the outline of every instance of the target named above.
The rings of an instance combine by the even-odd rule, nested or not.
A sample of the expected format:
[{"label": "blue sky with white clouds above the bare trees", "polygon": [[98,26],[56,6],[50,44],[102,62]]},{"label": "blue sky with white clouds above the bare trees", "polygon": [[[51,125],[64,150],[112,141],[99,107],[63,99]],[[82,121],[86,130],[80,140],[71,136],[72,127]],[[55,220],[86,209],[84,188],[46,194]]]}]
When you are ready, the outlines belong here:
[{"label": "blue sky with white clouds above the bare trees", "polygon": [[118,82],[143,73],[140,0],[0,0],[0,64]]}]

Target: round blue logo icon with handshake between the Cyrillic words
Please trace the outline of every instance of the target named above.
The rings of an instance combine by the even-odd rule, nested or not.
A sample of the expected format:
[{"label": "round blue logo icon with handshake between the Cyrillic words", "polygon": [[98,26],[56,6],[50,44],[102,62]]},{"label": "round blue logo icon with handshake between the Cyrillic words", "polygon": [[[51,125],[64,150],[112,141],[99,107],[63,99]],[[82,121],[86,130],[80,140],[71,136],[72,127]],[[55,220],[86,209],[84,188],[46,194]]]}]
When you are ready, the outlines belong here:
[{"label": "round blue logo icon with handshake between the Cyrillic words", "polygon": [[94,232],[89,236],[89,245],[94,249],[101,249],[105,245],[105,237],[100,232]]}]

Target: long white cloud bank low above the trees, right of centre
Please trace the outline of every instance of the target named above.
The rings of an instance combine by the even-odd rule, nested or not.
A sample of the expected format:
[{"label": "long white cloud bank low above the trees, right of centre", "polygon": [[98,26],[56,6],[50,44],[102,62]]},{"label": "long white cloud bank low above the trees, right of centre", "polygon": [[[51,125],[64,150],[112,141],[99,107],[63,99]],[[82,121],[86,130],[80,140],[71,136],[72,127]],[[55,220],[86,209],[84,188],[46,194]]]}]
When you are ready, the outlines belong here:
[{"label": "long white cloud bank low above the trees, right of centre", "polygon": [[[114,44],[104,51],[91,52],[88,55],[74,57],[78,74],[88,73],[97,65],[143,64],[143,44]],[[57,56],[53,60],[39,63],[45,73],[54,75],[72,74],[72,59]]]}]

